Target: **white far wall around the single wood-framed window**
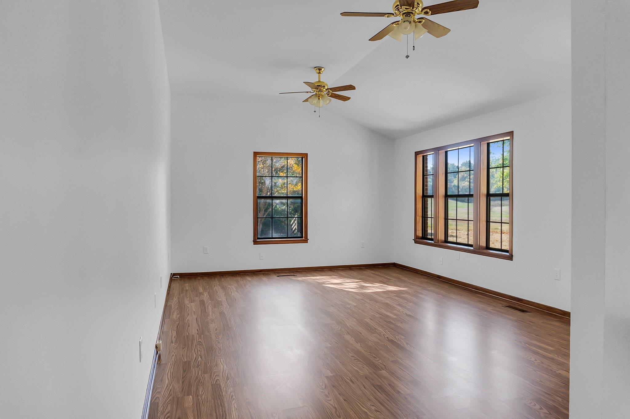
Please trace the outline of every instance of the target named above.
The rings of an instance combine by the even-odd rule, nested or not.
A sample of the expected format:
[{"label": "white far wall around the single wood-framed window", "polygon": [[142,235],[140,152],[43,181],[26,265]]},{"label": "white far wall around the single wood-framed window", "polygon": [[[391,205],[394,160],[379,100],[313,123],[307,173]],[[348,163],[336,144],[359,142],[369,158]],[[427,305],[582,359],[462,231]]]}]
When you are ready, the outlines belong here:
[{"label": "white far wall around the single wood-framed window", "polygon": [[[174,272],[392,261],[392,141],[275,96],[173,91]],[[253,151],[309,153],[307,244],[252,243]]]}]

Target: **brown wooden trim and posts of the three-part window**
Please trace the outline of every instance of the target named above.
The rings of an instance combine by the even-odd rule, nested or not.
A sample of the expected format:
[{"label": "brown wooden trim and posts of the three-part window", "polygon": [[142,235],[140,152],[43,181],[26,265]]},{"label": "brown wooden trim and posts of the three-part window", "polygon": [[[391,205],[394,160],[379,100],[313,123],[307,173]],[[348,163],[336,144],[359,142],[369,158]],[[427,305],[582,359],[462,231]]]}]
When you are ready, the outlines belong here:
[{"label": "brown wooden trim and posts of the three-part window", "polygon": [[[502,138],[510,139],[510,243],[509,251],[501,252],[486,248],[486,205],[481,205],[481,202],[485,202],[486,197],[486,184],[487,184],[487,160],[485,158],[485,151],[487,150],[487,144],[492,141],[496,141]],[[427,150],[416,151],[414,156],[415,176],[414,176],[414,238],[413,242],[416,244],[422,244],[424,246],[432,246],[435,248],[450,249],[454,251],[460,251],[464,253],[479,254],[482,256],[489,256],[491,258],[512,260],[513,259],[513,155],[514,155],[514,132],[508,131],[506,133],[486,136],[483,138],[471,139],[469,141],[461,141],[460,143],[448,144],[445,146],[430,148]],[[473,195],[475,197],[473,203],[474,212],[474,230],[473,230],[473,247],[461,246],[458,244],[451,244],[445,242],[445,153],[447,150],[454,148],[461,148],[464,146],[474,146],[474,172],[476,173],[473,187]],[[422,156],[433,154],[433,173],[437,173],[437,179],[433,179],[433,240],[423,239],[421,237],[421,220],[422,220],[422,185],[421,174],[423,168]],[[419,164],[420,163],[420,164]],[[437,170],[436,170],[437,168]],[[420,176],[420,178],[419,178]],[[437,180],[437,182],[436,182]],[[483,199],[483,200],[482,200]],[[420,234],[418,234],[420,233]]]}]

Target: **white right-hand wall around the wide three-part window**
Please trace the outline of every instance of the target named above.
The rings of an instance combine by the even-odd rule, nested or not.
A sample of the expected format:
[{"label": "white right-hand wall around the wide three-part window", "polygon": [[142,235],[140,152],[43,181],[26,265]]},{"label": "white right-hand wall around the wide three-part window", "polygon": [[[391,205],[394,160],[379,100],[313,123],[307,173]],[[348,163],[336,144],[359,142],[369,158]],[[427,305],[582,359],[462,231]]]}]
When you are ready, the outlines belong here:
[{"label": "white right-hand wall around the wide three-part window", "polygon": [[[414,153],[514,131],[513,261],[413,242]],[[570,310],[571,95],[552,95],[396,140],[398,263]],[[440,258],[444,264],[440,265]],[[553,279],[561,269],[561,281]]]}]

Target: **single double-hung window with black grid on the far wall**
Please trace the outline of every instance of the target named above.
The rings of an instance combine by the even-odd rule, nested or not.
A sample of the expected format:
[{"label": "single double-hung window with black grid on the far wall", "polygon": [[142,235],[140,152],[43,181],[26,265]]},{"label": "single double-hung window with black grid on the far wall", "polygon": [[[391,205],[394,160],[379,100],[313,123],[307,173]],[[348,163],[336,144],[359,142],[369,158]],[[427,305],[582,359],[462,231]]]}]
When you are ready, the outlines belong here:
[{"label": "single double-hung window with black grid on the far wall", "polygon": [[306,243],[306,153],[254,153],[254,244]]}]

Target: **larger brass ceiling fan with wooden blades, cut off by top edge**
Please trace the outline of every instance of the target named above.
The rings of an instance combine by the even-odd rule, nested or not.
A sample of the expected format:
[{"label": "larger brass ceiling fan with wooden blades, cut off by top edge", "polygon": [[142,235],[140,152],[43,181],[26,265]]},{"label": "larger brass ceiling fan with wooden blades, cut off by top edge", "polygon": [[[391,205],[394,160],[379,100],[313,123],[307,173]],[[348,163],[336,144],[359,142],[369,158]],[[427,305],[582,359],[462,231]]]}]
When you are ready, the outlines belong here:
[{"label": "larger brass ceiling fan with wooden blades, cut off by top edge", "polygon": [[[396,41],[402,41],[403,35],[415,33],[413,39],[418,39],[425,33],[430,33],[436,38],[447,35],[449,28],[445,28],[439,23],[430,21],[425,16],[433,14],[450,13],[460,10],[475,9],[479,6],[479,0],[454,0],[447,3],[433,4],[433,6],[424,7],[421,0],[396,0],[392,6],[394,13],[360,13],[360,12],[343,12],[341,16],[367,16],[380,18],[393,18],[394,16],[401,18],[399,21],[390,23],[382,31],[370,38],[370,41],[379,41],[387,35]],[[420,17],[416,17],[420,15]]]}]

